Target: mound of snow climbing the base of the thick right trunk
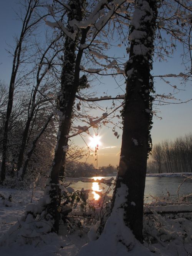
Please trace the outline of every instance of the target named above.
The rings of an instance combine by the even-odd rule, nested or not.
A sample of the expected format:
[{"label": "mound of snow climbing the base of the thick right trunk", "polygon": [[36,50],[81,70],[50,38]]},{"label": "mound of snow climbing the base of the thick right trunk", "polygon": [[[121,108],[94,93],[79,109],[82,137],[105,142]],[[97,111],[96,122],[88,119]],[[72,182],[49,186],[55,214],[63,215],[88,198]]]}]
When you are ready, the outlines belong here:
[{"label": "mound of snow climbing the base of the thick right trunk", "polygon": [[127,186],[122,183],[117,189],[114,208],[103,233],[96,241],[85,244],[77,256],[154,255],[134,238],[131,230],[124,224],[123,205],[127,194]]}]

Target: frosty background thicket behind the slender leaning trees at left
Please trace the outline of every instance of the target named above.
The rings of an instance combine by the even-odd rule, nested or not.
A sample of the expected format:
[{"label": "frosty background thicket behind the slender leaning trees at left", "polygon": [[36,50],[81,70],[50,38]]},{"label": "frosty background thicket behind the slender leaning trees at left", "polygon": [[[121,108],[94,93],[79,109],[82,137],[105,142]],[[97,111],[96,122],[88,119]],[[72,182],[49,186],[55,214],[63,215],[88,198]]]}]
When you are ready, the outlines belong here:
[{"label": "frosty background thicket behind the slender leaning trees at left", "polygon": [[[25,168],[25,179],[19,181],[18,178],[18,156],[22,147],[23,133],[28,117],[28,97],[27,93],[17,93],[17,100],[13,105],[8,126],[7,155],[6,155],[6,181],[5,185],[18,187],[19,183],[26,185],[31,183],[38,173],[41,176],[47,175],[53,159],[56,144],[55,118],[50,116],[50,103],[40,102],[36,106],[33,118],[28,131],[25,151],[23,153],[23,167]],[[8,103],[7,86],[0,81],[0,167],[3,155],[3,130],[6,119],[6,106]],[[50,119],[49,116],[51,117]],[[48,121],[48,123],[47,123]],[[45,126],[48,124],[47,126]],[[43,131],[43,132],[42,132]],[[18,182],[17,182],[18,181]]]}]

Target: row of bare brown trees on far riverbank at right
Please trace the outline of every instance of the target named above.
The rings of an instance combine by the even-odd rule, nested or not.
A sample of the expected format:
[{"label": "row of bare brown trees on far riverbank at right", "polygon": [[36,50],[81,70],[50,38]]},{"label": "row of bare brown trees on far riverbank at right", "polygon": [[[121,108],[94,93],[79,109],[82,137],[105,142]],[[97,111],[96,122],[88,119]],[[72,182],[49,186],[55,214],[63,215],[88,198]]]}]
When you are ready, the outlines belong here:
[{"label": "row of bare brown trees on far riverbank at right", "polygon": [[192,134],[154,145],[148,173],[192,172]]}]

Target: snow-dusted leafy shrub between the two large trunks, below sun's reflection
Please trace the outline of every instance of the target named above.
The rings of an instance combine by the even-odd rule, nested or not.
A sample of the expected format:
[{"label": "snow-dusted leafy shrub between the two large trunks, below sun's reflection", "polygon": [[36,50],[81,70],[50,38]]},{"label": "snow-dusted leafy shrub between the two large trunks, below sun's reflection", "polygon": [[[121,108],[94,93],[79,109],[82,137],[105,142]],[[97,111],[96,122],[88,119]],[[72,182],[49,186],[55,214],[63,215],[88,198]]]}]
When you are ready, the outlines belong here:
[{"label": "snow-dusted leafy shrub between the two large trunks, below sun's reflection", "polygon": [[[77,228],[80,236],[90,229],[90,238],[98,238],[103,231],[104,224],[110,213],[111,201],[108,193],[111,191],[111,184],[108,189],[97,193],[98,200],[90,200],[90,190],[74,191],[67,183],[61,183],[62,188],[61,209],[63,223],[67,223],[68,232],[73,233]],[[63,224],[61,223],[61,224]],[[99,223],[99,224],[98,224]],[[94,234],[93,234],[94,233]],[[91,238],[91,239],[92,239]]]}]

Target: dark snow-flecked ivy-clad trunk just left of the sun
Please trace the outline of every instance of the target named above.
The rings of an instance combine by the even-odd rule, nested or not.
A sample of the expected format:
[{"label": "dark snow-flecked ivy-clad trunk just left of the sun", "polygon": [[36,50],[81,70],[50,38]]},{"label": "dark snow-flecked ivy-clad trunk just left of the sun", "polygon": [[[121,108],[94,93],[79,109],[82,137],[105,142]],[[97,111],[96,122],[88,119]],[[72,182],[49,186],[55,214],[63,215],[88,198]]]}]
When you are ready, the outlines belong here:
[{"label": "dark snow-flecked ivy-clad trunk just left of the sun", "polygon": [[[82,20],[83,2],[84,0],[69,1],[68,5],[70,10],[68,11],[68,22],[73,19]],[[74,27],[68,25],[67,29],[69,32],[71,32],[71,34],[75,33]],[[79,85],[79,65],[83,54],[83,50],[79,50],[77,57],[75,54],[76,40],[78,36],[78,28],[76,28],[76,37],[74,39],[71,37],[66,37],[65,41],[63,69],[61,73],[61,91],[58,94],[60,115],[58,139],[55,148],[55,157],[50,171],[49,185],[46,188],[46,193],[48,193],[51,198],[51,203],[47,205],[47,211],[49,214],[51,214],[51,218],[54,220],[53,226],[56,232],[58,232],[59,229],[60,219],[60,213],[58,211],[58,207],[60,206],[59,174],[63,157],[65,157],[64,150],[68,143],[71,113],[73,110],[76,91]],[[81,37],[81,41],[83,40],[82,43],[84,43],[86,39],[86,32],[85,36],[82,32]]]}]

